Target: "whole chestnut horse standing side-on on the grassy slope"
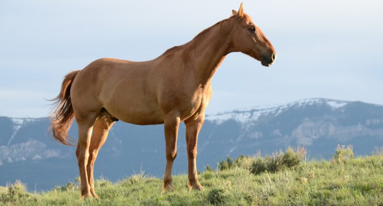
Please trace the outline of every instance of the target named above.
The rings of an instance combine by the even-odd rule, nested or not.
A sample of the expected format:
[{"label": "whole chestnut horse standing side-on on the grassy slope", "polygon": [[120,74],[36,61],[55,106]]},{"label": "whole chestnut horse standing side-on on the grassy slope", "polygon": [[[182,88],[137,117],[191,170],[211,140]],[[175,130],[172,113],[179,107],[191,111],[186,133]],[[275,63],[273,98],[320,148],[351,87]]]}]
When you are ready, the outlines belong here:
[{"label": "whole chestnut horse standing side-on on the grassy slope", "polygon": [[[76,119],[76,156],[81,198],[95,197],[93,167],[115,121],[136,125],[164,124],[166,168],[163,192],[173,189],[172,165],[177,155],[177,133],[186,127],[188,188],[201,190],[196,169],[197,140],[209,104],[211,81],[231,52],[242,52],[271,66],[276,51],[262,30],[238,12],[203,30],[193,40],[143,62],[101,58],[65,76],[55,100],[53,137],[74,145],[67,133]],[[72,143],[71,143],[72,142]]]}]

